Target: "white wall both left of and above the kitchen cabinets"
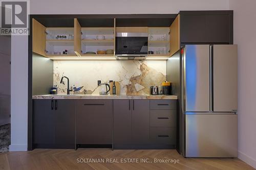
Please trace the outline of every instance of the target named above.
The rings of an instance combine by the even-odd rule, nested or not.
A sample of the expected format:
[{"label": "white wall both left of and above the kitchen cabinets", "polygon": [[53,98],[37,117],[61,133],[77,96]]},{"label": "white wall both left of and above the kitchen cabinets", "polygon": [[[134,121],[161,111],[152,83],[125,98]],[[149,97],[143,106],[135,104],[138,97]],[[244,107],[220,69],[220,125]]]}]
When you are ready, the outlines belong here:
[{"label": "white wall both left of and above the kitchen cabinets", "polygon": [[[137,14],[178,13],[180,10],[228,10],[228,0],[30,0],[30,14]],[[12,38],[11,146],[27,144],[28,38]]]}]

